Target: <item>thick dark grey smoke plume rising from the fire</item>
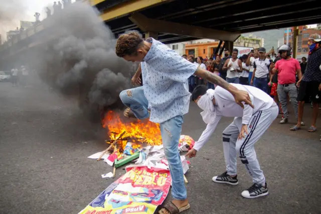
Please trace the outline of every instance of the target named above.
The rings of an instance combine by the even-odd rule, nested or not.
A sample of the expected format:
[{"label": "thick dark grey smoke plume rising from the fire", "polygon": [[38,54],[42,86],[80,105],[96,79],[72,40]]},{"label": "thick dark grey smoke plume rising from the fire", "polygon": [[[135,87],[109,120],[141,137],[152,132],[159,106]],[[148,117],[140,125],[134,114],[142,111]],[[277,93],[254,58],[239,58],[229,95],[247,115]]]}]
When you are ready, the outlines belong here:
[{"label": "thick dark grey smoke plume rising from the fire", "polygon": [[46,42],[28,54],[28,67],[55,90],[77,98],[86,114],[123,106],[119,92],[130,87],[134,66],[116,56],[116,39],[98,12],[72,4],[46,25],[39,38]]}]

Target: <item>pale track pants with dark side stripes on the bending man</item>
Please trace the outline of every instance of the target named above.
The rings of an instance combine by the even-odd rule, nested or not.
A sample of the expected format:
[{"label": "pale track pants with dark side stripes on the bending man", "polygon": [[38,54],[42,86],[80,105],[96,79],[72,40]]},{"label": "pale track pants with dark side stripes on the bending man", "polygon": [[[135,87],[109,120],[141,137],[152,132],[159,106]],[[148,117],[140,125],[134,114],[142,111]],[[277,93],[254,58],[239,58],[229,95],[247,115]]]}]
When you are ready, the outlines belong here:
[{"label": "pale track pants with dark side stripes on the bending man", "polygon": [[248,135],[238,140],[242,127],[242,118],[234,121],[223,131],[223,149],[226,171],[229,175],[236,175],[236,156],[239,155],[245,168],[253,178],[253,183],[265,185],[265,177],[256,158],[254,144],[260,139],[278,115],[277,105],[268,110],[257,111],[248,125]]}]

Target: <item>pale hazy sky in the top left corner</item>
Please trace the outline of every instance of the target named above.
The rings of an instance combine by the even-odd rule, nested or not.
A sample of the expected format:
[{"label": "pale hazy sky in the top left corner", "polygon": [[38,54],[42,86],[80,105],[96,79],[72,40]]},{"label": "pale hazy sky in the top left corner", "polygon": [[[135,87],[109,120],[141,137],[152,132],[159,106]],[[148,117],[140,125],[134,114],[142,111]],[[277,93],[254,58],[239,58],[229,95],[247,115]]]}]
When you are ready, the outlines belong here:
[{"label": "pale hazy sky in the top left corner", "polygon": [[6,32],[20,27],[21,20],[34,22],[36,12],[40,13],[40,20],[46,18],[44,9],[50,7],[52,10],[53,4],[54,0],[0,0],[0,34],[3,40]]}]

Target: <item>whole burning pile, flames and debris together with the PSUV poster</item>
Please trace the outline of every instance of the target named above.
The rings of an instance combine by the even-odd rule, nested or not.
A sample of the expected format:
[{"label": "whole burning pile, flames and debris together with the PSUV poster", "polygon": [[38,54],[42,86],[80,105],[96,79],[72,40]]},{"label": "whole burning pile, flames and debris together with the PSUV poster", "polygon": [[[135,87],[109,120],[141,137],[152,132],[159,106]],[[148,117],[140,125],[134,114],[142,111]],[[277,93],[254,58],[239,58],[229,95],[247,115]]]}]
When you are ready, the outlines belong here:
[{"label": "whole burning pile, flames and debris together with the PSUV poster", "polygon": [[[117,167],[137,160],[127,165],[126,174],[110,184],[79,213],[154,213],[165,200],[172,182],[159,125],[148,120],[123,121],[112,111],[105,115],[102,124],[108,129],[108,148],[88,157],[104,159],[114,166],[113,172],[101,177],[115,177]],[[178,149],[188,151],[194,144],[191,137],[181,135]],[[185,156],[181,156],[181,162],[185,174],[190,162]],[[188,183],[185,175],[184,180]]]}]

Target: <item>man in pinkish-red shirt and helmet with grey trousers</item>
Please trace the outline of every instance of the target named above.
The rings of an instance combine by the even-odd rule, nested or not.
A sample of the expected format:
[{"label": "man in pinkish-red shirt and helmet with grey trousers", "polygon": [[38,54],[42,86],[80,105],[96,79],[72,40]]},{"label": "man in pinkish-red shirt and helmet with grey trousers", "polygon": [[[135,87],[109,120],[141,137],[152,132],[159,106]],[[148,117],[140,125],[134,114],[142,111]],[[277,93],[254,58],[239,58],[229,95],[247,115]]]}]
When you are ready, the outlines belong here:
[{"label": "man in pinkish-red shirt and helmet with grey trousers", "polygon": [[277,95],[281,103],[283,111],[283,117],[280,124],[288,123],[288,112],[287,112],[287,95],[290,97],[293,105],[295,117],[297,120],[297,89],[295,86],[295,75],[297,73],[298,78],[302,76],[300,63],[291,57],[291,47],[288,45],[282,45],[278,48],[281,59],[272,65],[272,73],[277,74]]}]

